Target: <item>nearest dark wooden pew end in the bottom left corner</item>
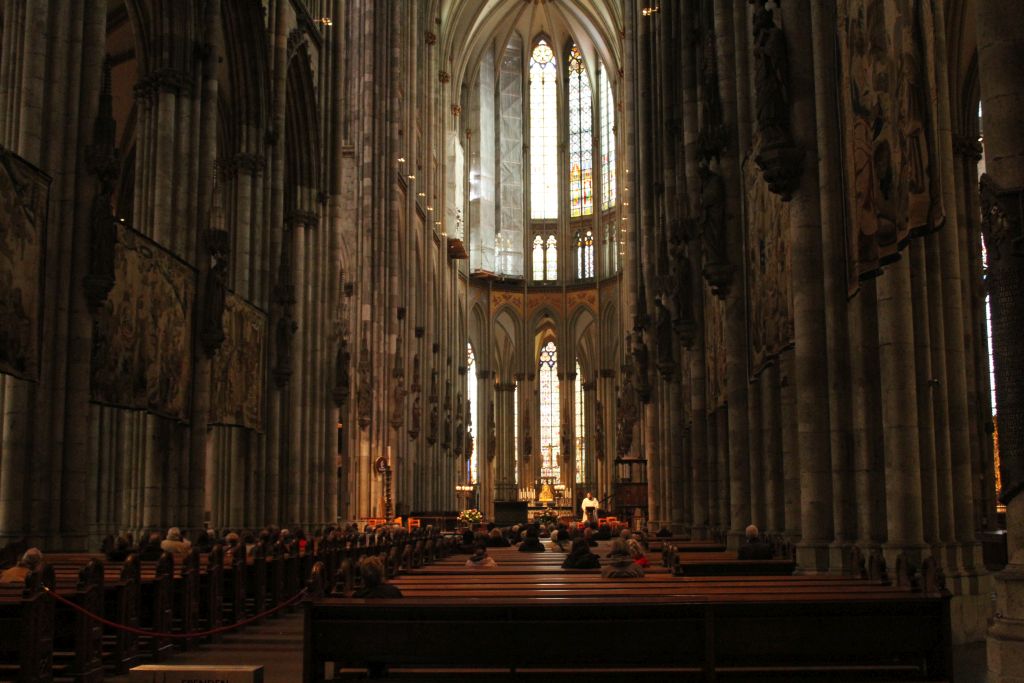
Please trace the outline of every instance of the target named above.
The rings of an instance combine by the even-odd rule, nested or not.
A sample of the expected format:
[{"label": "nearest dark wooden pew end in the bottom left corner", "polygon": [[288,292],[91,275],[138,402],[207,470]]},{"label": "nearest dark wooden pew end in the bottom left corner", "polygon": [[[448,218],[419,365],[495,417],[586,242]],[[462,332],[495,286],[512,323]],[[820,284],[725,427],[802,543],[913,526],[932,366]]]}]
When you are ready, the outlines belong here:
[{"label": "nearest dark wooden pew end in the bottom left corner", "polygon": [[24,584],[0,584],[0,676],[19,682],[53,680],[53,598],[43,590],[46,565]]}]

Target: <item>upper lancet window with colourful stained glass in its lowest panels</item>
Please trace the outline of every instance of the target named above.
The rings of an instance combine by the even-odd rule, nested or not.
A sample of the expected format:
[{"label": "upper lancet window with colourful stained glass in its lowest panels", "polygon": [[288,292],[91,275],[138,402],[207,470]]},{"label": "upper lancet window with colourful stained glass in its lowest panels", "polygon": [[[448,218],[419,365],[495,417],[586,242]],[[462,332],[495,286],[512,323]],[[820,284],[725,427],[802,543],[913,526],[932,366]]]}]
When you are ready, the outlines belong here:
[{"label": "upper lancet window with colourful stained glass in its lowest panels", "polygon": [[569,50],[569,215],[594,213],[594,113],[590,77],[578,45]]}]

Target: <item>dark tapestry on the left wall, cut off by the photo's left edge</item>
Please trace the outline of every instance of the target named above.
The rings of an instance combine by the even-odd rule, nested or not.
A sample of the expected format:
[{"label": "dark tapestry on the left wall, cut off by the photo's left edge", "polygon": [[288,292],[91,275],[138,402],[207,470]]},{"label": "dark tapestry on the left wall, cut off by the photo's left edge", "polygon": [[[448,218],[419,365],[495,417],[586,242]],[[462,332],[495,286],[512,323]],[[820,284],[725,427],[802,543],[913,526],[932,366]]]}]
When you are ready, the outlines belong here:
[{"label": "dark tapestry on the left wall, cut off by the photo's left edge", "polygon": [[50,178],[0,147],[0,373],[39,379]]}]

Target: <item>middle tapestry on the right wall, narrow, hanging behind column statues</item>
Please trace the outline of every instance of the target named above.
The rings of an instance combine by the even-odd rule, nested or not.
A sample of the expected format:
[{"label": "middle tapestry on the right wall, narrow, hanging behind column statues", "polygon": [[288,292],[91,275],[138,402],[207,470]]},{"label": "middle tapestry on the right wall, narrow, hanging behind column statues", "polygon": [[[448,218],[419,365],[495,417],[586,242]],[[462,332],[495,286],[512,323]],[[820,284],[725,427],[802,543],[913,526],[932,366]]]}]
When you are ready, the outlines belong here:
[{"label": "middle tapestry on the right wall, narrow, hanging behind column statues", "polygon": [[746,337],[753,377],[793,345],[790,203],[769,191],[753,156],[743,163],[746,197]]}]

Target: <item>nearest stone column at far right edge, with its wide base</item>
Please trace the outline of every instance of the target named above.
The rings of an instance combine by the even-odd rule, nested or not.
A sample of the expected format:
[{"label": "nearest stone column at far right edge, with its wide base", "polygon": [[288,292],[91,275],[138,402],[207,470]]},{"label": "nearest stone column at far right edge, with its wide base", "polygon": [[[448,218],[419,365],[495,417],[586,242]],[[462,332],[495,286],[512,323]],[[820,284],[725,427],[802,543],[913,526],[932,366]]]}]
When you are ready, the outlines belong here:
[{"label": "nearest stone column at far right edge, with its wide base", "polygon": [[[1024,680],[1024,496],[1019,486],[1024,460],[1024,4],[978,0],[978,66],[985,131],[982,193],[989,215],[992,348],[998,411],[1002,499],[1007,504],[1010,563],[995,574],[995,618],[988,631],[988,671],[995,681]],[[1001,191],[999,191],[1001,190]],[[987,197],[986,197],[987,195]]]}]

